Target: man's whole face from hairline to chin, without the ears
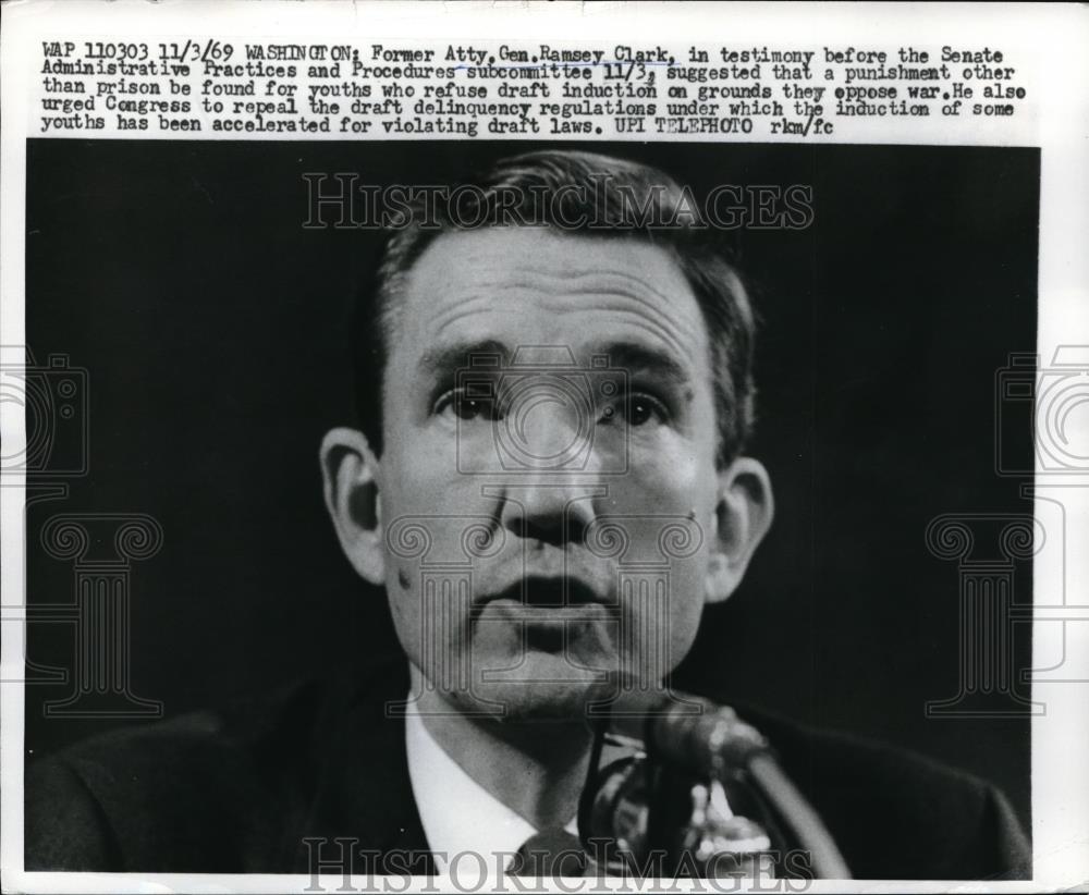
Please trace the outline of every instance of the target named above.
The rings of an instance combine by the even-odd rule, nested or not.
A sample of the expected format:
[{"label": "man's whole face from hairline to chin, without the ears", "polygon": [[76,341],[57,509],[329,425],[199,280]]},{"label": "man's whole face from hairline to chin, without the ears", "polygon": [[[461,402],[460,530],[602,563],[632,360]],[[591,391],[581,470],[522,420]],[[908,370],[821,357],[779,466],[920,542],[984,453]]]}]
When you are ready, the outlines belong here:
[{"label": "man's whole face from hairline to chin, without the ears", "polygon": [[657,684],[699,625],[719,481],[708,334],[675,262],[446,234],[395,301],[378,516],[436,704],[567,716],[603,672]]}]

